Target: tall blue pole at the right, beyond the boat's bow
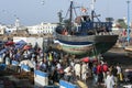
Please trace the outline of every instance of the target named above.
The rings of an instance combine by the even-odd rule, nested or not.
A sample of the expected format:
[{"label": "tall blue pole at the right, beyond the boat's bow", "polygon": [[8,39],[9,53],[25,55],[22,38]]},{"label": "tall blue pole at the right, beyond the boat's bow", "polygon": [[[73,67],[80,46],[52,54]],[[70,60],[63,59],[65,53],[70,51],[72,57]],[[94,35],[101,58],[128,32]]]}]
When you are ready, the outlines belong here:
[{"label": "tall blue pole at the right, beyond the boat's bow", "polygon": [[127,3],[128,3],[128,30],[127,30],[127,32],[128,32],[128,38],[127,38],[127,41],[128,41],[128,45],[130,44],[130,1],[128,0],[127,1]]}]

